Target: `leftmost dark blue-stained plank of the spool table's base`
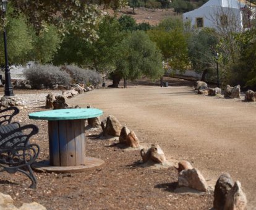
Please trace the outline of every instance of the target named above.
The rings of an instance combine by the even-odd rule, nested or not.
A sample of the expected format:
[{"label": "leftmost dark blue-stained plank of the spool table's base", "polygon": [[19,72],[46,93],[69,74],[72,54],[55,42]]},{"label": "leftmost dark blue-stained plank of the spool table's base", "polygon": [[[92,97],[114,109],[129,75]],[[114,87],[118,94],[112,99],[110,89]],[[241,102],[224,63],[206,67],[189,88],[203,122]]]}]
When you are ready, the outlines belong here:
[{"label": "leftmost dark blue-stained plank of the spool table's base", "polygon": [[58,121],[48,121],[49,162],[51,166],[61,166],[59,159],[59,126]]}]

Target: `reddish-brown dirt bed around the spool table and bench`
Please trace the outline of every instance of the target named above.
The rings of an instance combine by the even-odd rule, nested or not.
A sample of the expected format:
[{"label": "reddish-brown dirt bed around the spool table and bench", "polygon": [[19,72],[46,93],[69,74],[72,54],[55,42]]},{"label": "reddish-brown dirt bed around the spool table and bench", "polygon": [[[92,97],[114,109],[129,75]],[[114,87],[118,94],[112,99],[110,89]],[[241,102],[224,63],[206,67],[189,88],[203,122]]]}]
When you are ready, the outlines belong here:
[{"label": "reddish-brown dirt bed around the spool table and bench", "polygon": [[[19,91],[17,91],[19,92]],[[40,145],[38,161],[49,159],[48,125],[45,120],[30,120],[28,113],[44,110],[28,107],[15,121],[36,124],[40,133],[31,142]],[[85,124],[87,125],[87,124]],[[98,130],[85,131],[87,156],[98,157],[105,165],[75,174],[38,173],[36,190],[23,174],[1,173],[0,191],[12,196],[16,206],[35,201],[47,209],[209,209],[212,193],[174,192],[177,170],[142,167],[140,151],[125,151],[113,141],[101,140]],[[187,193],[188,192],[188,193]]]}]

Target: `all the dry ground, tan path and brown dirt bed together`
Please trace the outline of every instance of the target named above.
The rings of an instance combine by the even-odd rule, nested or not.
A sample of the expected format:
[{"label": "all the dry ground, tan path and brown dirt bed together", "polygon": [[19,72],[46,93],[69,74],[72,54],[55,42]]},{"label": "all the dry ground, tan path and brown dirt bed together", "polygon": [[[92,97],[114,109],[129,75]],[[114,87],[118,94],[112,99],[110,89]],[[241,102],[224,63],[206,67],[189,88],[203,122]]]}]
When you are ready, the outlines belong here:
[{"label": "all the dry ground, tan path and brown dirt bed together", "polygon": [[[165,78],[166,79],[166,78]],[[104,111],[103,117],[115,115],[145,144],[158,143],[169,161],[192,162],[215,185],[223,172],[239,180],[249,200],[256,201],[255,110],[256,103],[195,94],[192,82],[168,79],[168,88],[146,80],[127,89],[93,90],[69,99],[70,105],[93,107]],[[0,90],[1,92],[2,90]],[[44,93],[19,91],[14,93]],[[29,120],[30,112],[44,110],[43,103],[28,106],[15,117],[21,124],[38,125],[33,136],[41,153],[38,161],[49,159],[48,126],[45,120]],[[103,119],[101,117],[101,119]],[[86,124],[85,124],[86,125]],[[28,188],[23,174],[1,173],[0,191],[14,198],[15,204],[32,201],[48,209],[210,209],[213,192],[188,193],[177,190],[177,171],[141,167],[138,150],[126,151],[113,141],[99,138],[101,129],[85,130],[87,156],[98,157],[105,165],[77,174],[35,172],[37,190]]]}]

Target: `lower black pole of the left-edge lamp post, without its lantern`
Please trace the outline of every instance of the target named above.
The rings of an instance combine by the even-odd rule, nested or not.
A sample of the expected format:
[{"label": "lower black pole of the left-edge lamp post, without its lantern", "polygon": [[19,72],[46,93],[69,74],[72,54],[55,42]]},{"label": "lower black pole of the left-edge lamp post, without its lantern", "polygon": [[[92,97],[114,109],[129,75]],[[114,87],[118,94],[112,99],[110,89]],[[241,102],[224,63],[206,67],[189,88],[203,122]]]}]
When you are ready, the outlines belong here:
[{"label": "lower black pole of the left-edge lamp post, without its lantern", "polygon": [[6,69],[5,69],[6,83],[4,85],[4,96],[14,96],[14,92],[12,90],[12,83],[11,83],[11,73],[10,73],[9,62],[8,62],[7,36],[6,36],[5,28],[4,28],[4,56],[6,60]]}]

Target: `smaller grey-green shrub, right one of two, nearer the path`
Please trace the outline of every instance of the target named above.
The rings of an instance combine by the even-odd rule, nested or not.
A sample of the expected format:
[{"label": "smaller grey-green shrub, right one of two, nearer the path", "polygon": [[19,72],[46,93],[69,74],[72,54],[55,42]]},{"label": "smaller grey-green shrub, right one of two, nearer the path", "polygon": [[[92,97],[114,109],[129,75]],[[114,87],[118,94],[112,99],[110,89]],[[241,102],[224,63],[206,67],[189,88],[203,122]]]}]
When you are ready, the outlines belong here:
[{"label": "smaller grey-green shrub, right one of two, nearer the path", "polygon": [[69,73],[74,83],[98,85],[101,82],[100,75],[93,70],[81,69],[77,65],[64,65],[61,69]]}]

